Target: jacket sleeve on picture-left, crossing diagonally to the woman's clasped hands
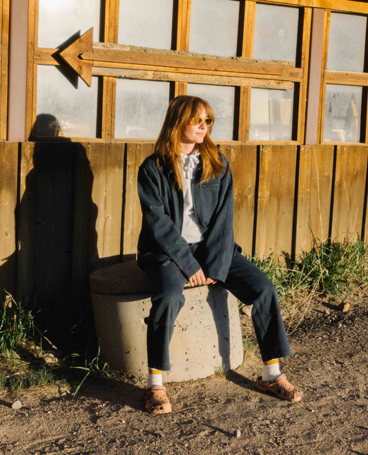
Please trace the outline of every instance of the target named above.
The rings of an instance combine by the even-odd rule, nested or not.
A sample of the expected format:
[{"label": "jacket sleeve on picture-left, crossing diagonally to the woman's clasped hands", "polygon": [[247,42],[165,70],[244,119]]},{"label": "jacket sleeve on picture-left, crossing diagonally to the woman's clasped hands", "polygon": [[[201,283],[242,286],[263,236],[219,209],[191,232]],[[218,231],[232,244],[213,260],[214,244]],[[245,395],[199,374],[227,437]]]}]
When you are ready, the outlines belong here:
[{"label": "jacket sleeve on picture-left, crossing diagonally to the woman's clasped hands", "polygon": [[138,195],[144,223],[162,252],[175,262],[186,278],[190,278],[201,267],[191,254],[188,242],[180,235],[171,217],[165,213],[157,173],[158,171],[152,172],[148,166],[139,168]]}]

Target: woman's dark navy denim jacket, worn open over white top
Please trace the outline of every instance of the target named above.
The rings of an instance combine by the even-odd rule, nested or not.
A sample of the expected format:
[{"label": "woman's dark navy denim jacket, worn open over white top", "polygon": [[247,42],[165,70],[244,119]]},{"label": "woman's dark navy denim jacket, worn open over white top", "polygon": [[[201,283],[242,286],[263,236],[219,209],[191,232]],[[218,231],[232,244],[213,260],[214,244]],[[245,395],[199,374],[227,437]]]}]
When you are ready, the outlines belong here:
[{"label": "woman's dark navy denim jacket, worn open over white top", "polygon": [[[233,236],[233,178],[229,162],[221,154],[226,173],[200,184],[202,159],[192,182],[195,215],[203,235],[204,273],[213,280],[226,280],[235,249]],[[138,195],[142,206],[142,230],[138,240],[138,264],[173,260],[186,278],[200,269],[182,237],[183,193],[175,186],[173,171],[157,168],[155,155],[144,160],[138,172]]]}]

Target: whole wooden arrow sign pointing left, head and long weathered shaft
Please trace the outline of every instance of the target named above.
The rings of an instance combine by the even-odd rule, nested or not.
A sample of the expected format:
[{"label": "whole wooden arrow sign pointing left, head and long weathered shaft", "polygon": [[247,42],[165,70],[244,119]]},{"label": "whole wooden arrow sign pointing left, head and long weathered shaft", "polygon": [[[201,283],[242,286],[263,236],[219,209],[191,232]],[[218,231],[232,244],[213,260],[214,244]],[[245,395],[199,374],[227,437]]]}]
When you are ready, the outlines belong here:
[{"label": "whole wooden arrow sign pointing left, head and long weathered shaft", "polygon": [[157,50],[117,43],[94,43],[93,28],[60,56],[86,82],[92,75],[186,81],[223,86],[292,89],[301,81],[302,68],[286,61],[259,61],[242,57],[215,57],[178,50]]}]

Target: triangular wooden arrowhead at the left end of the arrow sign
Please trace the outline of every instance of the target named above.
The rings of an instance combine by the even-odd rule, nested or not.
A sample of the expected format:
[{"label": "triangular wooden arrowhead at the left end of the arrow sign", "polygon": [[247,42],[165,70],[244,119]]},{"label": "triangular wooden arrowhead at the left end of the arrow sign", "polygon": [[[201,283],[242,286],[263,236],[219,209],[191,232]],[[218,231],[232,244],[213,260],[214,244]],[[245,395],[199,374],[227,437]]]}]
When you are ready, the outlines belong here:
[{"label": "triangular wooden arrowhead at the left end of the arrow sign", "polygon": [[92,52],[92,50],[93,27],[60,52],[62,59],[77,72],[89,87],[92,84],[92,61],[82,60],[79,56],[83,54],[83,52]]}]

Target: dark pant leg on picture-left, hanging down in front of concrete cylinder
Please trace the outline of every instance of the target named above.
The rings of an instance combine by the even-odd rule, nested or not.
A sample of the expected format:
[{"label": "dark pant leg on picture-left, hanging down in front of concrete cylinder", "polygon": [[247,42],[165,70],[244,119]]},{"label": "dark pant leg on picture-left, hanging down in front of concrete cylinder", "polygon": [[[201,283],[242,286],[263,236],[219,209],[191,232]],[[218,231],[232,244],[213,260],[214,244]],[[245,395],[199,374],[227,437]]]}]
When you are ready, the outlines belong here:
[{"label": "dark pant leg on picture-left, hanging down in front of concrete cylinder", "polygon": [[154,285],[147,327],[148,367],[168,371],[169,345],[175,319],[184,305],[183,289],[186,278],[171,260],[164,264],[151,264],[147,271]]}]

